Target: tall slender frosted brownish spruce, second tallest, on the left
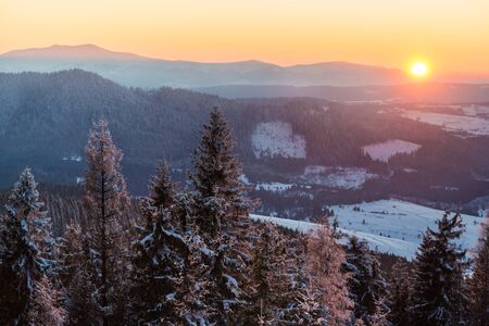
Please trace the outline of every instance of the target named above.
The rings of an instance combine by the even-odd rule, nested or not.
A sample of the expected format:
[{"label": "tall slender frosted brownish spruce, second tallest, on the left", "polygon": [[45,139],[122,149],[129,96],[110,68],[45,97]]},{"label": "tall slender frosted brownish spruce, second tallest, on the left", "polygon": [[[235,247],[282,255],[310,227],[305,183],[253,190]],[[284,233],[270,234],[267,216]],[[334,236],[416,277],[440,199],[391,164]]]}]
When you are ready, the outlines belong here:
[{"label": "tall slender frosted brownish spruce, second tallest, on the left", "polygon": [[121,275],[124,268],[124,243],[121,241],[121,218],[128,208],[129,197],[121,173],[122,152],[112,141],[108,124],[93,124],[86,147],[88,170],[84,181],[84,204],[87,211],[91,260],[96,267],[93,284],[102,312],[103,325],[109,325],[121,298]]}]

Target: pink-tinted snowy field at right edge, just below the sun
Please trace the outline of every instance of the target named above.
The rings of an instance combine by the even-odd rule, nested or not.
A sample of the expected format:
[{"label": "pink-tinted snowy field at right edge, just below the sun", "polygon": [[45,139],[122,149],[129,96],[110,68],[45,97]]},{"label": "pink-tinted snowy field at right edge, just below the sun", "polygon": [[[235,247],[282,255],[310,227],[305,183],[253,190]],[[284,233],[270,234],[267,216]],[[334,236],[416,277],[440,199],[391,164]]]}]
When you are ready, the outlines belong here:
[{"label": "pink-tinted snowy field at right edge, just below the sun", "polygon": [[489,136],[489,120],[422,111],[404,111],[403,117],[440,126],[448,131],[465,131],[476,136]]}]

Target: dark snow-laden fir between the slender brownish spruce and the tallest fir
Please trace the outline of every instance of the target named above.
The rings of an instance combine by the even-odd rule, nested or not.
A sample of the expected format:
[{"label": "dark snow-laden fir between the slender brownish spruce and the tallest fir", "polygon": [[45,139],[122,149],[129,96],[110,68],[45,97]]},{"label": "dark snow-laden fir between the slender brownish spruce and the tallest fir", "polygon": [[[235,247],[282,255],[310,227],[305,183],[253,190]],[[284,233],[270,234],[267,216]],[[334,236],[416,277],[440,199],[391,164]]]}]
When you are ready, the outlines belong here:
[{"label": "dark snow-laden fir between the slender brownish spruce and the tallest fir", "polygon": [[149,192],[139,201],[147,223],[135,243],[128,318],[134,324],[174,323],[174,298],[189,253],[174,227],[175,190],[166,163],[158,168]]}]

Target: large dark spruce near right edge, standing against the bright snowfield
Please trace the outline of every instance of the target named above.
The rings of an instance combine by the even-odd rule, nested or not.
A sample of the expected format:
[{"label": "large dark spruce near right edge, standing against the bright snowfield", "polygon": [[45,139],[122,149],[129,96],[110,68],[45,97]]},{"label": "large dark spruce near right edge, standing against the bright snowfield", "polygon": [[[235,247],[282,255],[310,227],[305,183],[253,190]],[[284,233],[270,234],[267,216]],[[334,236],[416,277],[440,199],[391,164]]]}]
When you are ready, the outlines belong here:
[{"label": "large dark spruce near right edge, standing against the bright snowfield", "polygon": [[462,281],[467,261],[465,250],[455,243],[464,231],[462,217],[444,214],[437,226],[426,230],[414,261],[409,310],[411,323],[419,326],[464,322]]}]

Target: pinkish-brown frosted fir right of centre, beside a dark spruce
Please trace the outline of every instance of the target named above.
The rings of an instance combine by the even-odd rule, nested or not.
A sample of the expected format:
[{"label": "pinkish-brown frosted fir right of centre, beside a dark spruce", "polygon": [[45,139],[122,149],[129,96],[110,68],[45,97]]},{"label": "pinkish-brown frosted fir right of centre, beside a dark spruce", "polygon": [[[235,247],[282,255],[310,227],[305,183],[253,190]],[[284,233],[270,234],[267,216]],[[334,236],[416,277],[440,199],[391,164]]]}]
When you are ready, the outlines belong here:
[{"label": "pinkish-brown frosted fir right of centre, beside a dark spruce", "polygon": [[[309,236],[306,266],[310,288],[317,292],[319,303],[327,309],[328,325],[343,325],[353,308],[348,297],[349,275],[342,271],[344,260],[344,252],[336,243],[328,225]],[[310,298],[311,292],[306,294]]]}]

